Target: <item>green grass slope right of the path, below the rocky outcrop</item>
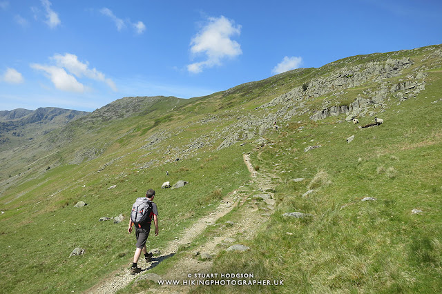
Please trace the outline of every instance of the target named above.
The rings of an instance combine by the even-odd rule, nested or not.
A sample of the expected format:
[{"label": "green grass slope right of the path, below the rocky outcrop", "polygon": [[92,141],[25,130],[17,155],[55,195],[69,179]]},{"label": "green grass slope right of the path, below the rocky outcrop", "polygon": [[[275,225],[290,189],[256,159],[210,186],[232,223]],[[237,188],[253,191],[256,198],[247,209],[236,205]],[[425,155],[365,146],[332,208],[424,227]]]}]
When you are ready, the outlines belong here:
[{"label": "green grass slope right of the path, below the rocky outcrop", "polygon": [[[438,95],[441,76],[432,78],[418,100],[403,102],[400,115],[383,112],[382,126],[354,130],[324,120],[302,137],[269,137],[275,144],[252,161],[281,177],[278,209],[256,239],[245,242],[250,251],[223,253],[212,272],[254,273],[258,280],[284,280],[284,286],[201,286],[195,293],[438,292],[442,112],[425,97]],[[425,113],[432,117],[416,119]],[[302,142],[310,138],[323,147],[304,153]],[[296,177],[307,180],[290,182]],[[317,192],[300,197],[309,188]],[[412,214],[414,208],[424,213]],[[315,217],[282,217],[293,211]]]}]

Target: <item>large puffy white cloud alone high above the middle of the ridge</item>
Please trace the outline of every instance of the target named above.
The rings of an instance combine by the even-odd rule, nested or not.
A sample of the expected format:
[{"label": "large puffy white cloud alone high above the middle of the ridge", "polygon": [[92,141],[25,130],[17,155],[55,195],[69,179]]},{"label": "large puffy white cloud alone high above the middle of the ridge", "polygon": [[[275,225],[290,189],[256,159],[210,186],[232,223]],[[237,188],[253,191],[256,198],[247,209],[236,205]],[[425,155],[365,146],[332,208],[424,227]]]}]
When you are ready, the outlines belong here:
[{"label": "large puffy white cloud alone high above the middle of the ridge", "polygon": [[189,64],[187,70],[193,73],[202,72],[203,68],[220,66],[224,58],[241,55],[240,44],[231,39],[240,33],[241,26],[235,26],[234,21],[223,16],[210,17],[209,23],[191,40],[191,53],[205,55],[206,60]]}]

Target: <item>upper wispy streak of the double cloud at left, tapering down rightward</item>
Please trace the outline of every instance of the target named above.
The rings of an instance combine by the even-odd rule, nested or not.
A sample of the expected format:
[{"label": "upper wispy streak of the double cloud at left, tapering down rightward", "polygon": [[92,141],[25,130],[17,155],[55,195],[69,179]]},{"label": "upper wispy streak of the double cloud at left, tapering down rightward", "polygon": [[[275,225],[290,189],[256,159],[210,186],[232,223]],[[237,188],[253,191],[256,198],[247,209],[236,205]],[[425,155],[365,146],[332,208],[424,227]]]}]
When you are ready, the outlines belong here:
[{"label": "upper wispy streak of the double cloud at left, tapering down rightward", "polygon": [[96,68],[88,68],[89,63],[82,63],[78,60],[77,55],[66,53],[65,55],[56,54],[51,59],[55,60],[57,66],[66,68],[70,73],[77,77],[88,77],[96,81],[104,81],[111,89],[117,92],[117,86],[111,79],[107,79],[103,72],[99,72]]}]

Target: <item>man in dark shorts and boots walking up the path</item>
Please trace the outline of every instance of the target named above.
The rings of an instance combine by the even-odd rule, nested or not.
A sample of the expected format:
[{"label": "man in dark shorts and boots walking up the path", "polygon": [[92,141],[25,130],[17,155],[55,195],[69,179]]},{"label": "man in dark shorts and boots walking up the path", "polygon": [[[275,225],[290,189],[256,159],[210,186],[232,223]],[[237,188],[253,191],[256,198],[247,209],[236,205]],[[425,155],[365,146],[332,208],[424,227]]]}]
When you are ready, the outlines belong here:
[{"label": "man in dark shorts and boots walking up the path", "polygon": [[[147,204],[151,209],[147,209],[147,219],[145,222],[140,224],[135,224],[132,220],[132,215],[129,220],[129,228],[128,232],[132,233],[132,225],[135,224],[135,237],[137,237],[137,249],[135,250],[135,254],[133,255],[133,264],[131,267],[131,275],[135,275],[135,273],[140,273],[141,268],[137,267],[138,259],[140,259],[141,253],[144,253],[144,257],[146,258],[146,262],[151,262],[152,253],[147,253],[146,249],[146,241],[151,231],[151,222],[153,217],[153,224],[155,224],[155,236],[158,235],[158,210],[157,204],[153,203],[153,198],[155,197],[155,190],[148,189],[146,192]],[[137,204],[139,201],[146,203],[145,198],[137,198]],[[135,204],[133,207],[135,207]],[[134,209],[134,208],[133,208]],[[135,221],[135,219],[134,219]]]}]

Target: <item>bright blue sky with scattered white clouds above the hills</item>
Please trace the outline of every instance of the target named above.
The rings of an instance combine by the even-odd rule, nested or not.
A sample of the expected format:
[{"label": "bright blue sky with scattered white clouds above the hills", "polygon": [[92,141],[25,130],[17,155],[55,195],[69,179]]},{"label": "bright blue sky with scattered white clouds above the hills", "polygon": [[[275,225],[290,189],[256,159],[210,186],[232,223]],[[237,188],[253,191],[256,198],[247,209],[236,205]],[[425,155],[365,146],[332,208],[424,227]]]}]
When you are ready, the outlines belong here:
[{"label": "bright blue sky with scattered white clouds above the hills", "polygon": [[442,1],[0,0],[0,110],[209,95],[442,43]]}]

